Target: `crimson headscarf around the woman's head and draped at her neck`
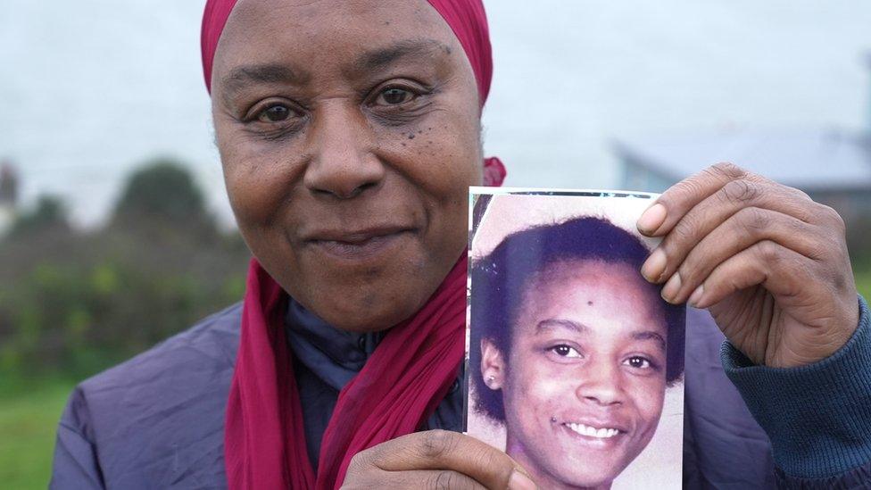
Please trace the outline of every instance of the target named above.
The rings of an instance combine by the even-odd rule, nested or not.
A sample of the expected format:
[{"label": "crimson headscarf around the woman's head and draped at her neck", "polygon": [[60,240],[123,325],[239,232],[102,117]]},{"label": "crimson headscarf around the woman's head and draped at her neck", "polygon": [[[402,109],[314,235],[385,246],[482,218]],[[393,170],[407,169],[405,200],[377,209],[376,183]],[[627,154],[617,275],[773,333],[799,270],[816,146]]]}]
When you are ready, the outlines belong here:
[{"label": "crimson headscarf around the woman's head and draped at her neck", "polygon": [[[427,0],[460,40],[483,106],[493,60],[481,0]],[[208,0],[203,75],[212,81],[218,39],[236,0]],[[499,186],[502,162],[484,162],[485,185]],[[462,226],[457,223],[457,226]],[[224,458],[233,489],[338,488],[354,454],[418,430],[452,385],[464,354],[466,257],[427,304],[391,328],[360,373],[339,393],[320,444],[317,475],[306,452],[303,410],[286,344],[286,295],[252,260],[242,336],[227,404]]]}]

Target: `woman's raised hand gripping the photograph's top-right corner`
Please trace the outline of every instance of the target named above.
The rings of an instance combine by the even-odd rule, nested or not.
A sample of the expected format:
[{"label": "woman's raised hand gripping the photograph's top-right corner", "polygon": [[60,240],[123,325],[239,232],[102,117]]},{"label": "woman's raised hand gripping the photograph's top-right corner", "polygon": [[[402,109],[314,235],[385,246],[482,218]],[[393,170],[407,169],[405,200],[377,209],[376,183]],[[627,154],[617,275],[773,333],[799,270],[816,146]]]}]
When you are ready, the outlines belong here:
[{"label": "woman's raised hand gripping the photograph's top-right corner", "polygon": [[859,324],[844,222],[797,189],[721,163],[669,188],[638,229],[663,237],[644,277],[708,308],[755,364],[823,360]]}]

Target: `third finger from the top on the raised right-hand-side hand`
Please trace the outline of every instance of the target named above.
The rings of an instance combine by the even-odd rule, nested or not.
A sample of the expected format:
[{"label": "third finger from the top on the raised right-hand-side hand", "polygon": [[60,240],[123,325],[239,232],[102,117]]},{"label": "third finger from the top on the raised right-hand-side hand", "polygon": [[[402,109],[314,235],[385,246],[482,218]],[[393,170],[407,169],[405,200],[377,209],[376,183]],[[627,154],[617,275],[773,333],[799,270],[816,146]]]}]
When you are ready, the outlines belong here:
[{"label": "third finger from the top on the raised right-hand-side hand", "polygon": [[[674,257],[676,271],[662,289],[662,297],[670,303],[690,301],[696,306],[693,292],[708,278],[711,271],[730,257],[763,240],[769,240],[811,260],[825,258],[837,245],[827,243],[825,235],[811,225],[782,212],[763,208],[743,208],[735,212],[686,253]],[[684,254],[683,251],[680,253]],[[674,266],[669,268],[674,269]]]}]

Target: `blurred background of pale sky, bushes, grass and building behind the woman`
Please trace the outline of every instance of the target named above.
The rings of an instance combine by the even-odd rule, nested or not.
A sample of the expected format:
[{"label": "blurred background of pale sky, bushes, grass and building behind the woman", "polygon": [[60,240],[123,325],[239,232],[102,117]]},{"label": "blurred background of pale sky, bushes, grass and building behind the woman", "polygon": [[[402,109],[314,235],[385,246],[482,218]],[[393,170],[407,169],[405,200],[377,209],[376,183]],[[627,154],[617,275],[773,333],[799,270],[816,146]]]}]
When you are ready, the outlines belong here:
[{"label": "blurred background of pale sky, bushes, grass and building behind the woman", "polygon": [[[0,2],[0,481],[77,381],[238,301],[203,0]],[[871,298],[871,4],[485,0],[506,185],[661,191],[731,161],[833,205]]]}]

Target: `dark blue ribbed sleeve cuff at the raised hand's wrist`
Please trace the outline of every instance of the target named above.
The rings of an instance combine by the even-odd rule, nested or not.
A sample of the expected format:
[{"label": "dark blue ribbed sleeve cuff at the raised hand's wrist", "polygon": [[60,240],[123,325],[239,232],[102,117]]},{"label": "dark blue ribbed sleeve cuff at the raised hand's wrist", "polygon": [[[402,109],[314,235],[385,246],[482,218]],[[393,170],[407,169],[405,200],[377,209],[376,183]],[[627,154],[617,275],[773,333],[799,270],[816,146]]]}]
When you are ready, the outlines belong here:
[{"label": "dark blue ribbed sleeve cuff at the raised hand's wrist", "polygon": [[800,368],[753,365],[726,342],[726,375],[771,440],[780,486],[871,487],[871,316],[831,357]]}]

